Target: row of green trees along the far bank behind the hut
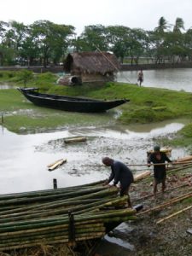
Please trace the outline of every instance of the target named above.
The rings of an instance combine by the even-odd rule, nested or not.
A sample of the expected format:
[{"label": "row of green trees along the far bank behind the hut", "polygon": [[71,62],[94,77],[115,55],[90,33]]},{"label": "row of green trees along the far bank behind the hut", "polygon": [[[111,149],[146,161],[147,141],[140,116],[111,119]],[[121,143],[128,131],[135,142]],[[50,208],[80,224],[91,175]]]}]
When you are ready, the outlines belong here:
[{"label": "row of green trees along the far bank behind the hut", "polygon": [[110,51],[124,63],[138,64],[144,57],[154,63],[192,61],[192,28],[183,19],[169,25],[160,17],[153,31],[127,26],[84,26],[77,37],[74,26],[37,20],[24,25],[0,21],[0,66],[63,63],[70,51]]}]

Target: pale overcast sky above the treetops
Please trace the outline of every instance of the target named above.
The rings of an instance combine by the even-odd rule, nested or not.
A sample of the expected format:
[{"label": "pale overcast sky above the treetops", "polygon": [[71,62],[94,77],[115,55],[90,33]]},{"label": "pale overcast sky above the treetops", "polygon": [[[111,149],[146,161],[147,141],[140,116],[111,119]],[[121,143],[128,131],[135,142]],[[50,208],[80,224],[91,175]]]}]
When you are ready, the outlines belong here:
[{"label": "pale overcast sky above the treetops", "polygon": [[129,26],[154,30],[161,16],[174,24],[177,17],[185,29],[192,26],[192,0],[1,0],[0,20],[25,25],[36,20],[72,25],[78,34],[84,26]]}]

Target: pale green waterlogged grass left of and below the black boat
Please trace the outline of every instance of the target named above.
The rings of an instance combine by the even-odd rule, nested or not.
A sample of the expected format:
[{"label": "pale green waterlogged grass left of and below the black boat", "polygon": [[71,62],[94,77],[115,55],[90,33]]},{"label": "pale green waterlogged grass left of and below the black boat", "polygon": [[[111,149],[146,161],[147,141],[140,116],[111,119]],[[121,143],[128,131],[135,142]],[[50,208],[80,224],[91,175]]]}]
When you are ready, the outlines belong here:
[{"label": "pale green waterlogged grass left of and below the black boat", "polygon": [[[16,133],[48,131],[71,126],[112,124],[110,113],[71,113],[50,108],[39,108],[28,102],[19,90],[0,90],[0,114],[3,125]],[[0,125],[2,120],[0,119]]]}]

